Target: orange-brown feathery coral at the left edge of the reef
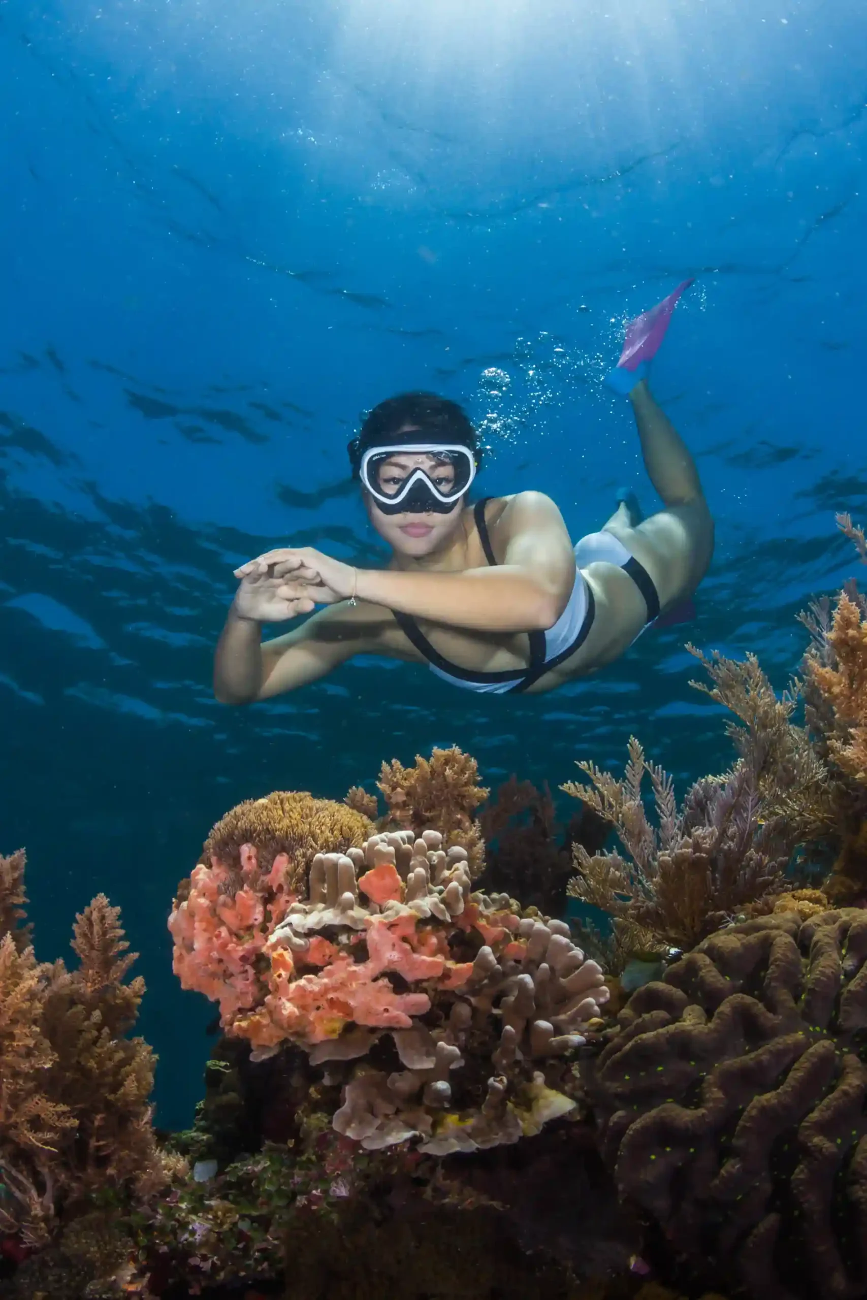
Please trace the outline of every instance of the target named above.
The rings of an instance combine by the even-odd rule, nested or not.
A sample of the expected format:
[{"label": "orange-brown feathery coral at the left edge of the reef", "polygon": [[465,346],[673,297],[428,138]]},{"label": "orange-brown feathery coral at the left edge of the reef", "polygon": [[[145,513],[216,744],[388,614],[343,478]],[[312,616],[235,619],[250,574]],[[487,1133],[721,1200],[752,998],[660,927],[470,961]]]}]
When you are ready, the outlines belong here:
[{"label": "orange-brown feathery coral at the left edge of the reef", "polygon": [[[9,859],[5,859],[8,863]],[[23,888],[17,870],[17,897]],[[16,919],[19,919],[16,918]],[[19,931],[18,931],[19,933]],[[146,1196],[164,1169],[151,1127],[153,1056],[127,1039],[144,991],[120,913],[99,894],[77,918],[79,959],[40,963],[0,941],[0,1226],[44,1244],[96,1192]]]}]

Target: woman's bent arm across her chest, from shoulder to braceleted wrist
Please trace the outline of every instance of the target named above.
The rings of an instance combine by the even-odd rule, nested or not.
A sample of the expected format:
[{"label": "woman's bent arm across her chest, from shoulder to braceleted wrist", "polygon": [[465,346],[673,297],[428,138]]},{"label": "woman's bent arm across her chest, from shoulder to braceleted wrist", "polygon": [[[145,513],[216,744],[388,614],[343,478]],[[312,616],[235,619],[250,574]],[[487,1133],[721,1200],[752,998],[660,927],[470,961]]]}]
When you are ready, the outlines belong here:
[{"label": "woman's bent arm across her chest, from shoulder to braceleted wrist", "polygon": [[497,523],[506,542],[497,568],[461,573],[359,569],[365,601],[456,628],[530,632],[554,627],[575,584],[575,554],[550,497],[519,493]]}]

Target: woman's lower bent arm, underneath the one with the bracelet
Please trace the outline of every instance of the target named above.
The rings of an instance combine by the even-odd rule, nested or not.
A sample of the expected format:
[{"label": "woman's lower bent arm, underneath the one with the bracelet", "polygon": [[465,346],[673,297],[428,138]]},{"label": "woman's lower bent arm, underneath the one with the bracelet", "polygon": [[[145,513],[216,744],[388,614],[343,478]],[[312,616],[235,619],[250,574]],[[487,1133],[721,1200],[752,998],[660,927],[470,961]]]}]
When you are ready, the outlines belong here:
[{"label": "woman's lower bent arm, underneath the one with the bracelet", "polygon": [[233,606],[217,644],[213,693],[224,705],[251,705],[296,690],[374,650],[381,623],[381,615],[363,606],[334,604],[263,645],[261,624]]}]

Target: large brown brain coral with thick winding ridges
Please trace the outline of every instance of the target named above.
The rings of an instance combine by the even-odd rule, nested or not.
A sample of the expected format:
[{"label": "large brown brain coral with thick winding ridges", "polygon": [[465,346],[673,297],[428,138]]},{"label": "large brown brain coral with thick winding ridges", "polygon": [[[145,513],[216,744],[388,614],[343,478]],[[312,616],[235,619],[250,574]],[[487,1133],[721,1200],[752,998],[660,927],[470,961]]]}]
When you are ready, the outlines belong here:
[{"label": "large brown brain coral with thick winding ridges", "polygon": [[646,984],[586,1086],[650,1239],[757,1300],[867,1295],[867,913],[760,916]]}]

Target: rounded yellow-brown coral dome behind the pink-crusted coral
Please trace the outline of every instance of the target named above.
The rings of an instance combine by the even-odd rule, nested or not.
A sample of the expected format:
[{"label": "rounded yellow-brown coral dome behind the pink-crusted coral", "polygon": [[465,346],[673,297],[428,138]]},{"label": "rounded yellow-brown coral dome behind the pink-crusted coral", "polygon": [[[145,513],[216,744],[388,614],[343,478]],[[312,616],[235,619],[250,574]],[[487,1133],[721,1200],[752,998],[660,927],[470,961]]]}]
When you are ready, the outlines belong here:
[{"label": "rounded yellow-brown coral dome behind the pink-crusted coral", "polygon": [[315,800],[307,792],[276,790],[263,800],[246,800],[217,822],[201,850],[200,862],[212,857],[240,872],[240,846],[252,844],[265,874],[278,853],[289,857],[286,888],[300,890],[317,853],[346,853],[360,848],[373,832],[364,814],[346,803]]}]

